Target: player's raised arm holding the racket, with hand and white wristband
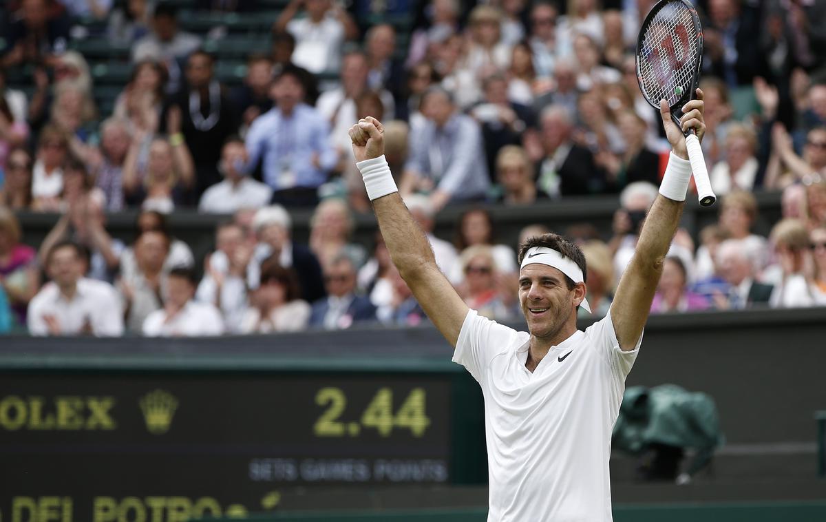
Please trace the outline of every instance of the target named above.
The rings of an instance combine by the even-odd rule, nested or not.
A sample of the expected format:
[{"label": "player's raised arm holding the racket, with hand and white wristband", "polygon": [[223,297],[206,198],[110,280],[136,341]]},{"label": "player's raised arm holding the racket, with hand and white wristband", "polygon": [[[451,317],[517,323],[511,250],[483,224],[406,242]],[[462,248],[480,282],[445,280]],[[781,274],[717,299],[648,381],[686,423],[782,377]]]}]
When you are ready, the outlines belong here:
[{"label": "player's raised arm holding the racket, with hand and white wristband", "polygon": [[[697,137],[702,140],[705,134],[705,123],[703,122],[703,94],[700,89],[697,89],[697,98],[686,104],[681,124],[683,129],[693,127],[697,132]],[[619,348],[623,350],[634,349],[639,336],[643,334],[643,326],[651,311],[651,301],[653,301],[657,283],[662,275],[662,263],[671,246],[676,227],[680,223],[682,207],[685,206],[686,189],[691,178],[686,138],[672,121],[667,106],[661,106],[660,113],[668,141],[672,144],[672,158],[663,176],[660,195],[648,211],[643,230],[640,231],[634,259],[631,259],[631,263],[619,279],[614,302],[611,304],[611,320],[614,323]],[[674,155],[678,158],[674,158]],[[681,164],[681,161],[684,163]],[[678,188],[675,190],[675,187]],[[663,196],[663,192],[674,198]]]}]

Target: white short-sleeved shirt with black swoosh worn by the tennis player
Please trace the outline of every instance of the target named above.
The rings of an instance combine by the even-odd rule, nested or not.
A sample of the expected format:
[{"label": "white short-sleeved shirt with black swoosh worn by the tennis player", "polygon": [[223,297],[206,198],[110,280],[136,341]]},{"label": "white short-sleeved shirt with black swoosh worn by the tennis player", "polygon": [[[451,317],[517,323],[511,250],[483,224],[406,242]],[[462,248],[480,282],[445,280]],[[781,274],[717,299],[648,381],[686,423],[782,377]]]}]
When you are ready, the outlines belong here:
[{"label": "white short-sleeved shirt with black swoosh worn by the tennis player", "polygon": [[453,354],[485,398],[487,520],[610,522],[611,431],[642,335],[620,350],[609,312],[552,346],[534,373],[528,341],[472,310]]}]

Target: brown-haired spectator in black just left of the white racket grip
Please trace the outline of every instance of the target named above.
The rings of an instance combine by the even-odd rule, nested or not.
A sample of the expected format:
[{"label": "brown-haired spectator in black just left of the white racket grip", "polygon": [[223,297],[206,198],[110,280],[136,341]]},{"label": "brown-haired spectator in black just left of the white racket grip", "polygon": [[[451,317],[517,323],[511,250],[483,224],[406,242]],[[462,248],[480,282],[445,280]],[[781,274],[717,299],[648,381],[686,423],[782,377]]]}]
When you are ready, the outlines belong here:
[{"label": "brown-haired spectator in black just left of the white racket grip", "polygon": [[660,157],[645,145],[648,126],[643,118],[628,110],[619,115],[617,124],[619,134],[625,140],[623,153],[615,155],[603,150],[597,155],[597,163],[608,175],[610,189],[619,192],[629,183],[638,181],[658,185]]}]

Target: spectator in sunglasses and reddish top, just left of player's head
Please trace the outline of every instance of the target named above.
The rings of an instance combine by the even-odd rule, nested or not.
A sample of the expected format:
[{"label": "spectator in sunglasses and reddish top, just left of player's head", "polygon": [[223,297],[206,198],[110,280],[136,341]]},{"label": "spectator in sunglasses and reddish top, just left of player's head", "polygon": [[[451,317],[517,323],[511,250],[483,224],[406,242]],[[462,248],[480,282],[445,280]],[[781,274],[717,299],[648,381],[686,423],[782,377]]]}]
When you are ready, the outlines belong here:
[{"label": "spectator in sunglasses and reddish top, just left of player's head", "polygon": [[507,320],[515,316],[515,296],[506,291],[510,282],[502,280],[490,246],[476,244],[464,249],[459,265],[464,276],[459,293],[468,306],[489,319]]}]

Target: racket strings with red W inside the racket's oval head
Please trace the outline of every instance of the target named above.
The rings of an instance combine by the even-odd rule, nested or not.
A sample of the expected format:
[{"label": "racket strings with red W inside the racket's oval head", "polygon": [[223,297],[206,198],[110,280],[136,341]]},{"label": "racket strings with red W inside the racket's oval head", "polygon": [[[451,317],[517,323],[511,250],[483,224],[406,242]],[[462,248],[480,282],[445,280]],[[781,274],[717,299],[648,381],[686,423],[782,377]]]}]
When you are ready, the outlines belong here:
[{"label": "racket strings with red W inside the racket's oval head", "polygon": [[662,7],[641,40],[638,74],[643,94],[658,105],[673,106],[692,87],[699,59],[698,35],[691,12],[681,2]]}]

